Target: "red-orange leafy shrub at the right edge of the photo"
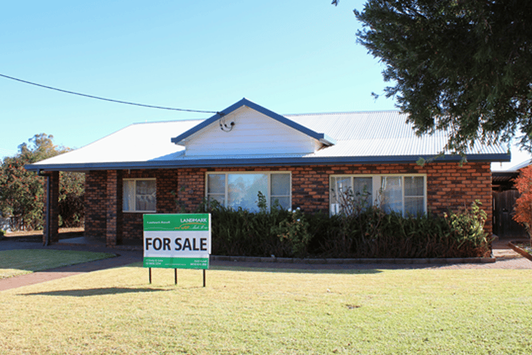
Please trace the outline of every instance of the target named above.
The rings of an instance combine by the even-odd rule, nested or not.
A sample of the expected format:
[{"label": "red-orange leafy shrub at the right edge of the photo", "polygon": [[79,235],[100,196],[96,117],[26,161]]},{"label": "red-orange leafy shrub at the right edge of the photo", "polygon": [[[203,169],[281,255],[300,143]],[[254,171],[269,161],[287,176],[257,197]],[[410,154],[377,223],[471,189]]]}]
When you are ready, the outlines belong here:
[{"label": "red-orange leafy shrub at the right edge of the photo", "polygon": [[521,169],[519,177],[514,185],[521,196],[516,200],[514,206],[514,221],[522,224],[532,244],[532,166]]}]

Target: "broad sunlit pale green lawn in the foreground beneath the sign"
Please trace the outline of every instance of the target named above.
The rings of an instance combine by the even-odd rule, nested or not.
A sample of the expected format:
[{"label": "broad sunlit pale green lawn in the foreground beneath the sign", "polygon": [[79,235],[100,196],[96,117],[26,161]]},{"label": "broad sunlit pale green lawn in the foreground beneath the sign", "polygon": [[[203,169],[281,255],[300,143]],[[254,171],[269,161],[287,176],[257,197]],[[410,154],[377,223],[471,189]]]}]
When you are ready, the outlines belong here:
[{"label": "broad sunlit pale green lawn in the foreground beneath the sign", "polygon": [[96,271],[0,293],[7,354],[531,354],[529,270]]}]

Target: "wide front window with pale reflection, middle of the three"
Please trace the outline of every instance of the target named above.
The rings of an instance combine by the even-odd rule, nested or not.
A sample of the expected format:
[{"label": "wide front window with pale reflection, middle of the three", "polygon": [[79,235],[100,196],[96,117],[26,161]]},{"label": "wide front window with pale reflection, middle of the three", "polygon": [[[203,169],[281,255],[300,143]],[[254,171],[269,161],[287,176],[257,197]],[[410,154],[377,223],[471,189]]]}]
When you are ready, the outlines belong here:
[{"label": "wide front window with pale reflection, middle of the three", "polygon": [[270,207],[276,201],[284,209],[292,207],[290,173],[208,173],[206,179],[207,198],[224,207],[256,212],[259,192]]}]

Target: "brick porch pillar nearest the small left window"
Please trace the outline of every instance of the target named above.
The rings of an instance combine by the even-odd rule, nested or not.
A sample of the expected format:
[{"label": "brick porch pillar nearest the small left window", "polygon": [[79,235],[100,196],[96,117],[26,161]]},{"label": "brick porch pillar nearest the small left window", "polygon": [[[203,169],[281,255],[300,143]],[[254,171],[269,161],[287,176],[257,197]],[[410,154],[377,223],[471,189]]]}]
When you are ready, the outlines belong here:
[{"label": "brick porch pillar nearest the small left window", "polygon": [[107,171],[106,246],[122,243],[122,184],[121,170]]}]

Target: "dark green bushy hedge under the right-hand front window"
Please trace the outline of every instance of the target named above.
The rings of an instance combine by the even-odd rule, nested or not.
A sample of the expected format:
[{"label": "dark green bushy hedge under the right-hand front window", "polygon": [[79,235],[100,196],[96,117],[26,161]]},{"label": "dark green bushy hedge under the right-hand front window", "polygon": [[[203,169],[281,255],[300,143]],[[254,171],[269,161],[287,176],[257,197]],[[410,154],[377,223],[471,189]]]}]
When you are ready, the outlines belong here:
[{"label": "dark green bushy hedge under the right-hand front window", "polygon": [[[444,217],[425,214],[402,217],[368,207],[337,217],[337,232],[321,240],[318,254],[354,258],[458,258],[488,256],[490,241],[484,231],[485,212],[449,212]],[[335,230],[335,229],[333,229]]]}]

